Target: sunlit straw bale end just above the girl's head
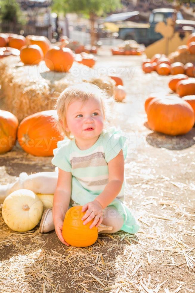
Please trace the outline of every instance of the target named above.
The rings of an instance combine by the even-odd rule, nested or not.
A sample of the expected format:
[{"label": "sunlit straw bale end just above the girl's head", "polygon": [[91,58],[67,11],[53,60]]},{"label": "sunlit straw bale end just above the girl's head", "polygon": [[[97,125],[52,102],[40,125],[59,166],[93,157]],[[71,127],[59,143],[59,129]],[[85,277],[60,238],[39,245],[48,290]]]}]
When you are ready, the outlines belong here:
[{"label": "sunlit straw bale end just above the girl's head", "polygon": [[88,83],[93,83],[96,86],[99,86],[99,88],[104,89],[110,97],[112,97],[114,94],[115,82],[109,76],[91,77],[91,78],[89,78],[87,80],[83,80],[83,81],[86,81]]}]

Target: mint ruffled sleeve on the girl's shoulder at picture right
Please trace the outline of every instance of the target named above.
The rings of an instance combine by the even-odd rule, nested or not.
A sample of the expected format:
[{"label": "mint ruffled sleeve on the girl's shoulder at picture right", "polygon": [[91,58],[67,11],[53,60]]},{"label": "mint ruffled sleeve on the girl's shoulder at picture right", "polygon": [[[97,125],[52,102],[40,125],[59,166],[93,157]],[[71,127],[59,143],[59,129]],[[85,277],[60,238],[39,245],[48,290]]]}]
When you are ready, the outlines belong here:
[{"label": "mint ruffled sleeve on the girl's shoulder at picture right", "polygon": [[103,147],[107,163],[115,158],[121,149],[125,159],[128,149],[128,137],[123,135],[119,127],[117,129],[115,126],[110,127],[109,131],[103,136]]}]

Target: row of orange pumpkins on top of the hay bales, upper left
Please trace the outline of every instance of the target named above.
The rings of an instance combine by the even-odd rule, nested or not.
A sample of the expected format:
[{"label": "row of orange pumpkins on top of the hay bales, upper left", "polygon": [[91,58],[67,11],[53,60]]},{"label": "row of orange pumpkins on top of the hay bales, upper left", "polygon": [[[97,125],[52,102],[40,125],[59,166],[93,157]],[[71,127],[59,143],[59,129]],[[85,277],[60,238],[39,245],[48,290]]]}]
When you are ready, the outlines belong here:
[{"label": "row of orange pumpkins on top of the hay bales, upper left", "polygon": [[[67,72],[74,61],[93,67],[96,58],[92,54],[75,54],[67,47],[68,41],[61,46],[51,45],[45,36],[24,36],[0,33],[0,56],[20,56],[25,65],[36,65],[42,60],[52,71]],[[14,48],[14,49],[13,49]]]}]

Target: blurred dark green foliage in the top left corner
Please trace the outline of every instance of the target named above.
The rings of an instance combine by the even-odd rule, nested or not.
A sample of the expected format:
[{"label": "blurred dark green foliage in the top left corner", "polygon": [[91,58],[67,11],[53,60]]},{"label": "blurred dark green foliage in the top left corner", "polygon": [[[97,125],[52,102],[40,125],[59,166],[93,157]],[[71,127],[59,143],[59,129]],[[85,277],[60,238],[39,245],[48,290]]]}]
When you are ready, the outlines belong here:
[{"label": "blurred dark green foliage in the top left corner", "polygon": [[0,0],[0,20],[14,23],[22,22],[22,13],[16,0]]}]

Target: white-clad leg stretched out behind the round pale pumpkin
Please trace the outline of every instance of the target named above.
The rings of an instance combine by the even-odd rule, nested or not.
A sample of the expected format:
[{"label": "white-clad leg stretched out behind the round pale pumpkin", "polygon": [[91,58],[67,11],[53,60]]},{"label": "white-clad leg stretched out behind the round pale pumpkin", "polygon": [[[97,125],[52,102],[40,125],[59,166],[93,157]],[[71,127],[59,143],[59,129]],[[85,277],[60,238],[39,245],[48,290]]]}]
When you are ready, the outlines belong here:
[{"label": "white-clad leg stretched out behind the round pale pumpkin", "polygon": [[18,189],[30,189],[34,193],[41,194],[54,194],[57,181],[57,172],[39,172],[31,175],[21,173],[16,182],[0,185],[0,203]]}]

